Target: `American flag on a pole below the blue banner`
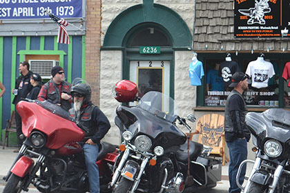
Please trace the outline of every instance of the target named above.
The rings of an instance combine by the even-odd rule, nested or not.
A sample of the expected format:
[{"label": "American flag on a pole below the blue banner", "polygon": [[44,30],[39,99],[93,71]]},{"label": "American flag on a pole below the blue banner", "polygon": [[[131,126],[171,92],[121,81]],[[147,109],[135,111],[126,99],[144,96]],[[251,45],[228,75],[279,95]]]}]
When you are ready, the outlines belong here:
[{"label": "American flag on a pole below the blue banner", "polygon": [[68,26],[68,21],[57,17],[55,14],[52,14],[48,11],[45,11],[48,16],[59,24],[59,32],[57,34],[57,43],[66,43],[70,44],[70,37],[68,37],[68,32],[66,31],[66,26]]}]

